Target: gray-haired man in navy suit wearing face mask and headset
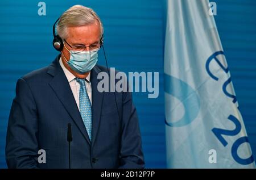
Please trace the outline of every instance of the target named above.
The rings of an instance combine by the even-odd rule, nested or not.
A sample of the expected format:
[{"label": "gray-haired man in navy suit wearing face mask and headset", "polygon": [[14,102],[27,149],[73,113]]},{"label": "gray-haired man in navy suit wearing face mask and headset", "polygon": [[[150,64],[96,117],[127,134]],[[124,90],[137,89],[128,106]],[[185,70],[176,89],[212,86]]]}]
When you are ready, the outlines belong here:
[{"label": "gray-haired man in navy suit wearing face mask and headset", "polygon": [[[9,168],[144,168],[131,93],[97,90],[103,27],[76,5],[61,15],[53,45],[61,54],[16,84],[6,140]],[[55,34],[55,31],[53,31]],[[59,39],[58,39],[59,38]],[[72,141],[67,141],[71,124]],[[46,163],[38,151],[46,152]]]}]

